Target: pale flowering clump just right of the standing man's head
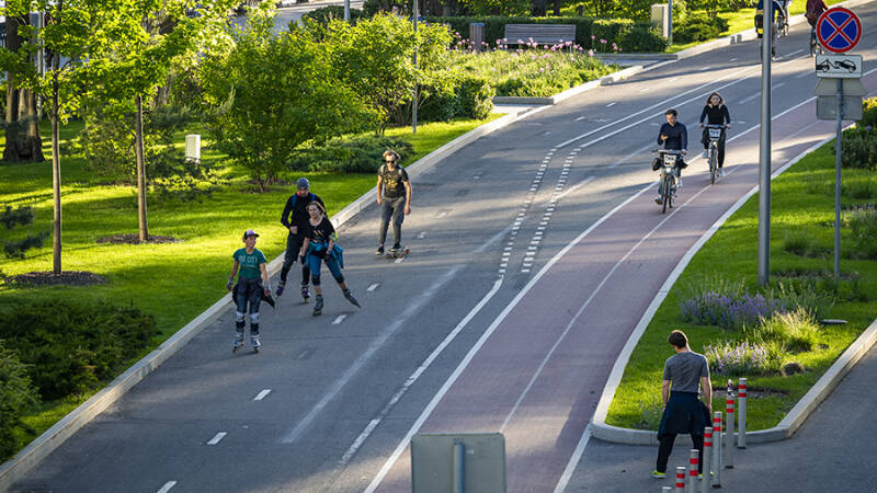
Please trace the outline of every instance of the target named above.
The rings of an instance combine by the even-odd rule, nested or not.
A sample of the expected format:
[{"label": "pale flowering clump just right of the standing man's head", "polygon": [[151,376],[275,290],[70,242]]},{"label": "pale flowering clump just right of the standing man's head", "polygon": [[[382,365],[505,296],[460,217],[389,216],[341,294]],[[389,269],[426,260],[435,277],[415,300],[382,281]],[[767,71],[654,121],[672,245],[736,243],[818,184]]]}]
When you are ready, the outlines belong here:
[{"label": "pale flowering clump just right of the standing man's head", "polygon": [[774,344],[743,341],[719,342],[704,346],[709,371],[726,377],[770,375],[779,370],[779,348]]}]

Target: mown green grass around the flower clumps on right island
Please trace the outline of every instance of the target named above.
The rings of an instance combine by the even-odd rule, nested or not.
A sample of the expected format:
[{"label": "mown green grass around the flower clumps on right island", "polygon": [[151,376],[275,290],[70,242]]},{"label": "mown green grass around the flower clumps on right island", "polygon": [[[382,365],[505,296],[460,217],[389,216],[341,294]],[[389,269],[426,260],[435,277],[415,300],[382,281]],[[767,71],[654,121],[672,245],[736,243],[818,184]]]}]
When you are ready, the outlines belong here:
[{"label": "mown green grass around the flower clumps on right island", "polygon": [[[807,274],[822,278],[830,285],[833,268],[834,217],[834,152],[827,144],[785,173],[772,184],[771,275],[772,286],[781,275]],[[844,183],[872,180],[874,173],[863,170],[843,170]],[[815,183],[825,186],[813,186]],[[831,186],[828,186],[831,184]],[[843,198],[843,206],[862,205],[877,197]],[[661,380],[664,360],[673,354],[667,336],[673,329],[688,335],[692,349],[702,352],[711,341],[738,340],[741,334],[726,332],[717,326],[699,326],[681,321],[679,303],[685,286],[707,274],[728,279],[742,279],[750,291],[756,290],[758,278],[758,194],[734,213],[716,234],[697,252],[675,283],[664,302],[646,329],[630,356],[622,382],[610,406],[606,423],[645,429],[657,429],[654,413],[660,408]],[[828,252],[823,255],[798,255],[783,245],[796,231],[810,233],[812,250]],[[838,289],[838,299],[830,317],[847,320],[845,325],[821,328],[815,351],[785,354],[783,364],[797,362],[807,370],[804,374],[782,377],[771,375],[749,379],[750,389],[774,389],[785,395],[752,398],[747,402],[749,429],[775,426],[800,398],[816,383],[832,363],[874,321],[877,314],[877,262],[853,260],[850,250],[850,231],[842,230],[841,274],[844,280]],[[713,375],[714,387],[724,387],[721,377]],[[714,405],[719,402],[714,398]],[[718,409],[718,408],[716,408]],[[643,410],[646,412],[643,413]],[[643,417],[645,415],[645,417]],[[660,415],[658,415],[660,417]]]}]

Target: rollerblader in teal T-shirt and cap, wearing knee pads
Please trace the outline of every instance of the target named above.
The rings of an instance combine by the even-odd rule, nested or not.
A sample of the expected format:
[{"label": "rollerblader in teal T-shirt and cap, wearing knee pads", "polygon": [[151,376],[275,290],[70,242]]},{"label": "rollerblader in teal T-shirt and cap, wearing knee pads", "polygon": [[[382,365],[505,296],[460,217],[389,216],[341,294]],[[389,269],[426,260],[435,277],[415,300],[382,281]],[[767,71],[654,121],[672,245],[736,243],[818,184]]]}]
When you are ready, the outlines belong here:
[{"label": "rollerblader in teal T-shirt and cap, wearing knee pads", "polygon": [[[235,345],[232,352],[243,347],[244,318],[250,316],[250,343],[253,351],[259,352],[262,341],[259,335],[259,307],[262,298],[271,300],[271,282],[265,268],[265,255],[255,248],[255,231],[248,229],[243,233],[244,248],[238,249],[232,255],[235,263],[231,265],[231,275],[228,276],[226,287],[232,291],[237,311],[235,312]],[[238,273],[240,268],[240,273]],[[235,284],[235,275],[238,283]]]}]

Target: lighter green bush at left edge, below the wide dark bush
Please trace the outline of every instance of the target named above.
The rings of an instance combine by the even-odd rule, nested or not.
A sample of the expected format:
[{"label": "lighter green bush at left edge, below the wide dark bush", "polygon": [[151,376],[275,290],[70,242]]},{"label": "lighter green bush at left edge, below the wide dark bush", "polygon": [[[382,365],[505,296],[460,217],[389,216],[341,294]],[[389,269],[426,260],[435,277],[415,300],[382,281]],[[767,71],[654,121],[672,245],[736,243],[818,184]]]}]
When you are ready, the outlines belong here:
[{"label": "lighter green bush at left edge, below the wide dark bush", "polygon": [[0,341],[0,461],[18,449],[12,432],[21,423],[21,417],[37,403],[36,395],[27,376],[27,366]]}]

